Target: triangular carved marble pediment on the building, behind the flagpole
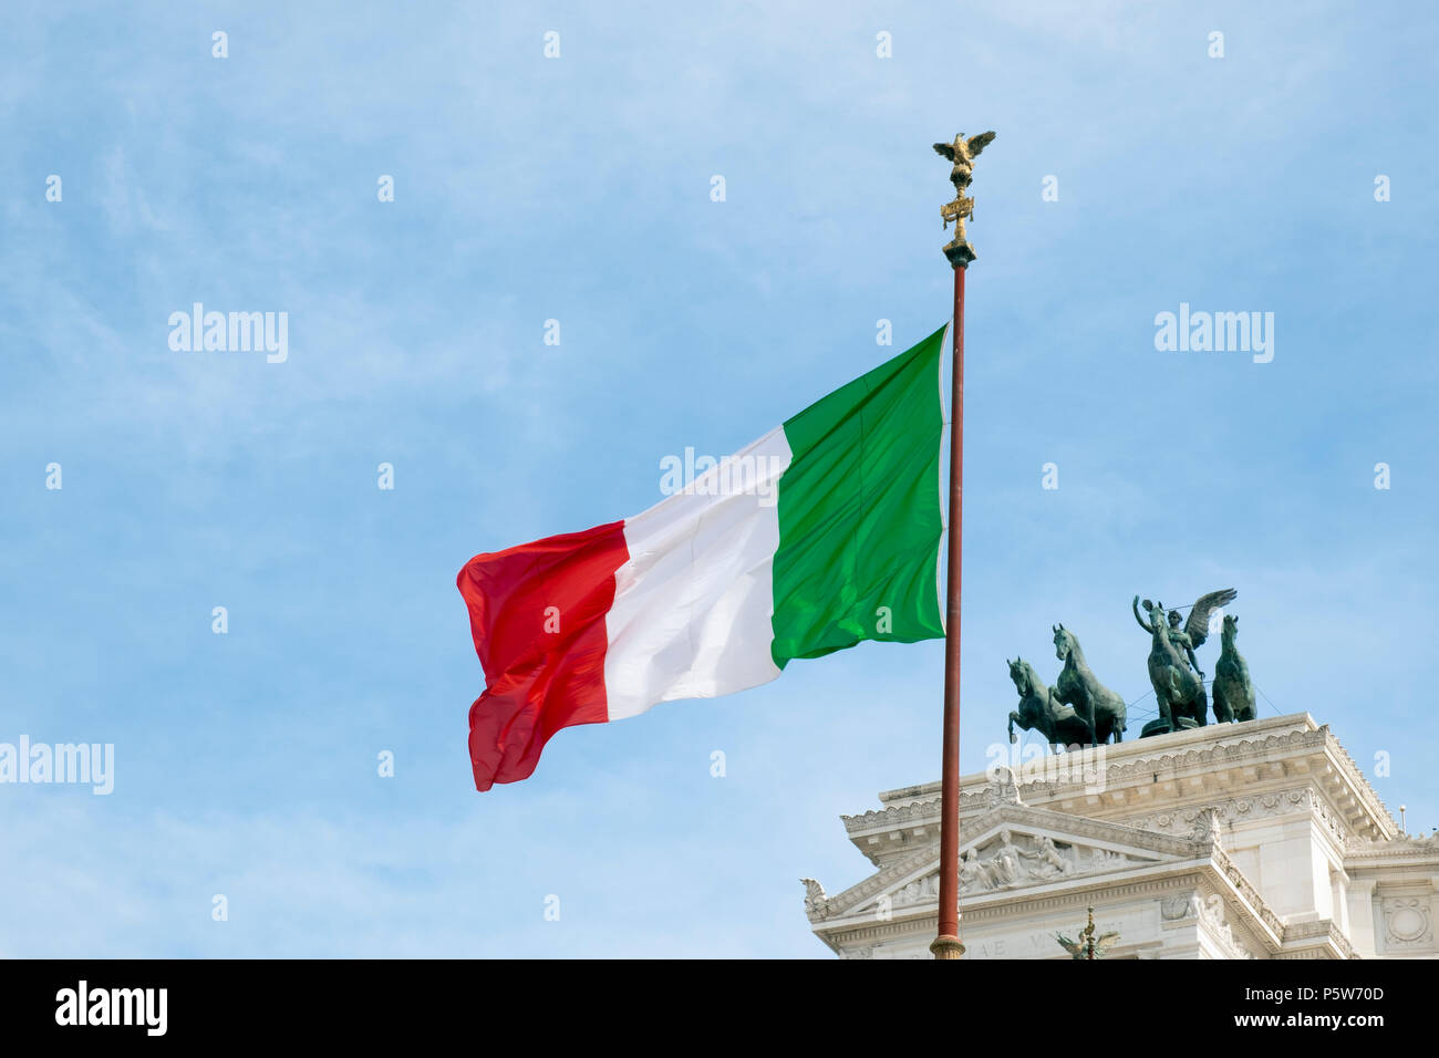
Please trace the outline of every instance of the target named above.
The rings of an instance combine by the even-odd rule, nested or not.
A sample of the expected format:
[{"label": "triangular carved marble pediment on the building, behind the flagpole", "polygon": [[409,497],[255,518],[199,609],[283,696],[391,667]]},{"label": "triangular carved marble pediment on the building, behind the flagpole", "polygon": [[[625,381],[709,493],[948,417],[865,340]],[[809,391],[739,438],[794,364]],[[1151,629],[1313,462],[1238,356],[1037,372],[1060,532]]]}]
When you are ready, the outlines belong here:
[{"label": "triangular carved marble pediment on the building, behind the flagpole", "polygon": [[[1207,833],[1174,838],[1063,812],[1002,805],[960,833],[960,900],[1014,894],[1207,856]],[[812,920],[932,908],[940,846],[932,842],[835,897],[812,891]]]}]

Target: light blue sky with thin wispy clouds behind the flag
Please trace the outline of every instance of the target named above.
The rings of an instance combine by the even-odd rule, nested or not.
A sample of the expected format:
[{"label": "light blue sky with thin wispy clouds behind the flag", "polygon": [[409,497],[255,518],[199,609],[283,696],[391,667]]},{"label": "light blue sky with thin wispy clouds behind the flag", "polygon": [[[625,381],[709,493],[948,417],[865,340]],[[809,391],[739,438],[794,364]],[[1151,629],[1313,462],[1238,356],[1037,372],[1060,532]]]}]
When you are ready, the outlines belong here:
[{"label": "light blue sky with thin wispy clouds behind the flag", "polygon": [[[865,877],[837,816],[938,776],[941,645],[568,730],[478,795],[453,580],[940,325],[930,143],[984,128],[966,770],[1053,622],[1134,701],[1131,596],[1233,586],[1261,713],[1439,826],[1432,13],[495,7],[7,12],[0,741],[114,743],[115,790],[0,786],[0,954],[826,954],[797,878]],[[173,351],[196,301],[288,312],[289,358]],[[1180,302],[1274,312],[1272,363],[1157,351]]]}]

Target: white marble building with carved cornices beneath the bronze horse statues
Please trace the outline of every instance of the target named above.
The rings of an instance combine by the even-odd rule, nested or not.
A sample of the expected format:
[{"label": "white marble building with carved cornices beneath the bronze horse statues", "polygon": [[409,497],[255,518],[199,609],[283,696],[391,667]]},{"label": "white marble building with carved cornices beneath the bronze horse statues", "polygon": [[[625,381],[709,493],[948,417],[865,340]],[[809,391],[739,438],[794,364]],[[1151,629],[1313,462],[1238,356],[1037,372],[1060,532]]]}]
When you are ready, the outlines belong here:
[{"label": "white marble building with carved cornices beneath the bronze horse statues", "polygon": [[[1439,957],[1439,836],[1402,835],[1307,713],[1040,763],[960,782],[966,959],[1069,959],[1055,934],[1091,905],[1111,959]],[[879,802],[843,818],[875,874],[806,880],[810,928],[842,959],[928,959],[940,785]]]}]

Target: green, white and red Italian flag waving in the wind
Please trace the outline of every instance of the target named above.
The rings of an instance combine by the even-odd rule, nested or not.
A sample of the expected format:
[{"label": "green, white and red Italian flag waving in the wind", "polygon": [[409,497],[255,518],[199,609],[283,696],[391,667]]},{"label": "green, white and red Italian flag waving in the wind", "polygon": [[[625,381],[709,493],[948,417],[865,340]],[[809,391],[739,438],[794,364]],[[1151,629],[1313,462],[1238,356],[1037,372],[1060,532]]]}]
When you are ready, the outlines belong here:
[{"label": "green, white and red Italian flag waving in the wind", "polygon": [[465,563],[475,786],[527,779],[561,727],[744,691],[863,639],[943,638],[944,333],[643,514]]}]

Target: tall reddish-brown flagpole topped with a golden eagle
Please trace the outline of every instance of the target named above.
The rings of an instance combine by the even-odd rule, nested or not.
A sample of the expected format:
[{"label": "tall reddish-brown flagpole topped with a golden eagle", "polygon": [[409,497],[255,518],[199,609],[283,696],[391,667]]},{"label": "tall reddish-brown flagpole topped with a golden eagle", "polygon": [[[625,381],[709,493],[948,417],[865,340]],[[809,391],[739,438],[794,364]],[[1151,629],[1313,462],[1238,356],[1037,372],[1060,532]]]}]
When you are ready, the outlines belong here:
[{"label": "tall reddish-brown flagpole topped with a golden eagle", "polygon": [[974,248],[964,235],[964,219],[974,200],[964,191],[973,178],[974,155],[993,132],[934,150],[954,161],[950,180],[954,202],[940,209],[945,227],[954,222],[954,239],[944,248],[954,269],[954,367],[950,379],[950,576],[945,590],[944,623],[944,741],[940,757],[940,926],[930,944],[935,959],[958,959],[960,941],[960,583],[964,544],[964,276],[974,261]]}]

